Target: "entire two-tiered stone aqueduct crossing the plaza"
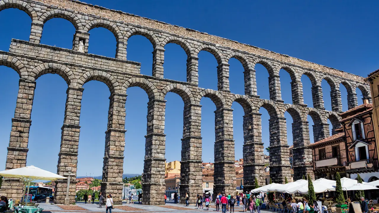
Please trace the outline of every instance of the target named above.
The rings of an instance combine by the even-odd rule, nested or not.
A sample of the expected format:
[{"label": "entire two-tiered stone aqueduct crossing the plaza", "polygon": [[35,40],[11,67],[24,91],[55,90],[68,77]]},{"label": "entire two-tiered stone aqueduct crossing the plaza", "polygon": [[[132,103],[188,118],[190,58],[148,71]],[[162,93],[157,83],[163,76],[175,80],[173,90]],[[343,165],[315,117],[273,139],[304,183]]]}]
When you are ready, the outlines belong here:
[{"label": "entire two-tiered stone aqueduct crossing the plaza", "polygon": [[[261,107],[268,110],[270,115],[270,176],[274,182],[283,183],[285,177],[290,178],[291,175],[284,118],[286,111],[293,117],[293,162],[296,180],[303,174],[313,174],[312,154],[307,148],[310,143],[307,115],[312,116],[315,124],[314,139],[319,140],[329,136],[327,119],[332,122],[333,130],[338,128],[339,113],[342,111],[340,83],[348,90],[349,108],[357,106],[356,88],[359,88],[364,98],[371,102],[370,89],[362,77],[157,20],[74,0],[0,0],[0,11],[6,8],[25,11],[32,20],[29,41],[13,39],[9,52],[0,52],[0,65],[11,67],[20,75],[6,169],[26,165],[30,115],[37,78],[47,73],[60,75],[66,80],[68,89],[57,172],[63,176],[67,176],[69,172],[73,174],[74,182],[70,183],[69,193],[71,203],[75,202],[81,97],[83,85],[88,81],[102,81],[111,92],[101,191],[106,194],[112,193],[116,203],[121,202],[126,132],[125,101],[126,91],[130,87],[143,88],[149,96],[143,203],[150,205],[164,202],[164,97],[168,92],[179,94],[185,103],[180,194],[184,197],[188,192],[191,200],[195,199],[196,194],[202,193],[202,97],[209,97],[216,105],[215,193],[235,191],[235,147],[231,108],[233,102],[240,103],[245,112],[244,145],[240,148],[243,148],[246,191],[252,189],[255,177],[259,185],[265,184],[259,114]],[[39,44],[44,23],[55,17],[67,19],[75,26],[72,50]],[[87,53],[88,31],[95,27],[106,28],[116,37],[115,58]],[[136,34],[145,36],[153,44],[152,76],[140,74],[140,63],[127,61],[127,41]],[[164,46],[168,43],[179,44],[188,55],[187,82],[163,78]],[[198,87],[197,54],[201,50],[212,53],[218,61],[218,91]],[[230,58],[236,58],[243,64],[245,94],[232,94],[229,91]],[[257,96],[254,66],[258,63],[263,64],[269,72],[270,100],[263,100]],[[280,69],[285,69],[291,76],[293,104],[285,104],[281,100]],[[308,108],[303,101],[300,79],[303,74],[312,81],[314,108]],[[327,80],[331,87],[332,111],[324,109],[321,89],[323,79]],[[66,186],[67,181],[57,182],[56,203],[63,203]],[[6,179],[0,193],[19,198],[22,194],[22,183]]]}]

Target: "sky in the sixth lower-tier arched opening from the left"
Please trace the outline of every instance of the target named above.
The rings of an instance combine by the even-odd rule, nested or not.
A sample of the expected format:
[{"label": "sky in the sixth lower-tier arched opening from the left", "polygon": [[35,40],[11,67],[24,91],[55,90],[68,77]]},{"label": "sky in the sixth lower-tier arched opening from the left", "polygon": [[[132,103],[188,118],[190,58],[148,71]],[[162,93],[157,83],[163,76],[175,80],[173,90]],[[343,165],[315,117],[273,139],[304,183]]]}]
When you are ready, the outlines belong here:
[{"label": "sky in the sixth lower-tier arched opening from the left", "polygon": [[202,161],[213,163],[215,160],[215,103],[210,98],[202,97],[201,107],[201,137]]}]

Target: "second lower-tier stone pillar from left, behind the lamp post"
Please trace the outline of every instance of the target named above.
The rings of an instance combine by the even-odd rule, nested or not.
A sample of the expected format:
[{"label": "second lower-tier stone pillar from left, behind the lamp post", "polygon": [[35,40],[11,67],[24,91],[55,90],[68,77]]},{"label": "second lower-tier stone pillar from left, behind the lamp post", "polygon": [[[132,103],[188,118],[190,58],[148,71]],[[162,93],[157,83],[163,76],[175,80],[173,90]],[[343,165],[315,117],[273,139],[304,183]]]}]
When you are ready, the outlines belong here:
[{"label": "second lower-tier stone pillar from left, behind the lamp post", "polygon": [[[80,108],[81,98],[84,88],[72,87],[67,88],[66,109],[64,110],[64,121],[61,137],[61,149],[58,154],[57,174],[70,178],[70,204],[75,203],[76,190],[76,172],[78,165],[78,146],[80,135]],[[67,179],[57,180],[55,184],[54,202],[64,204],[67,193]]]}]

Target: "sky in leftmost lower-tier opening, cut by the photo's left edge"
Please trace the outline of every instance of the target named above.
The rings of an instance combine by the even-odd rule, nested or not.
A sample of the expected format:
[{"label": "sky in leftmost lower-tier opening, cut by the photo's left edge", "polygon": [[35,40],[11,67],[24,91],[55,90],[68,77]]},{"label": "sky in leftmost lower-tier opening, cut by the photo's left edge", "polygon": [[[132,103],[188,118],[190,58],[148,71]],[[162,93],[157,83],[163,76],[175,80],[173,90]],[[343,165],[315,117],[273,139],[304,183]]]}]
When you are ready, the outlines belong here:
[{"label": "sky in leftmost lower-tier opening, cut by the photo's left edge", "polygon": [[[1,14],[1,13],[0,13]],[[0,66],[0,79],[3,81],[0,84],[0,143],[3,147],[9,144],[9,132],[12,127],[12,118],[14,117],[14,109],[16,108],[17,94],[19,91],[20,76],[15,70],[10,67]],[[5,162],[8,150],[0,149],[1,169],[5,169]]]}]

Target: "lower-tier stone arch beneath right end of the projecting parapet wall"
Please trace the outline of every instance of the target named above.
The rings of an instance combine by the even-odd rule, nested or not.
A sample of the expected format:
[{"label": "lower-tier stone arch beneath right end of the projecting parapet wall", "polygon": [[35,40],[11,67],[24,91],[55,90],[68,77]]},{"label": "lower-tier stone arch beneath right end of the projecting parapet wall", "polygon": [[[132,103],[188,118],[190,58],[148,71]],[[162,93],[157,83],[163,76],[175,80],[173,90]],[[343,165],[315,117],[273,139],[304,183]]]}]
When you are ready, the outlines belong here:
[{"label": "lower-tier stone arch beneath right end of the projecting parapet wall", "polygon": [[133,86],[137,86],[146,91],[149,100],[163,100],[163,98],[159,96],[158,89],[153,85],[153,83],[146,80],[145,78],[130,78],[129,80],[125,81],[121,88],[122,91],[127,91],[128,88]]}]

